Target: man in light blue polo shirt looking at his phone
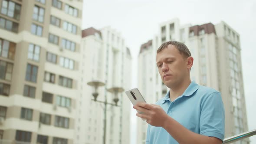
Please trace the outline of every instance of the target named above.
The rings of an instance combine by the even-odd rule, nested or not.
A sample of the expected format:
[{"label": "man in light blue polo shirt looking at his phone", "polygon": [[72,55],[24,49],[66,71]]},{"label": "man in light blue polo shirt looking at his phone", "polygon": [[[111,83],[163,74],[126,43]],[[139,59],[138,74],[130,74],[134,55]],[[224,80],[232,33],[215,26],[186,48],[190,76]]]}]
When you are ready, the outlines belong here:
[{"label": "man in light blue polo shirt looking at his phone", "polygon": [[147,119],[146,144],[222,144],[224,108],[220,92],[191,82],[193,57],[183,43],[169,41],[157,50],[158,72],[170,88],[156,105],[134,108]]}]

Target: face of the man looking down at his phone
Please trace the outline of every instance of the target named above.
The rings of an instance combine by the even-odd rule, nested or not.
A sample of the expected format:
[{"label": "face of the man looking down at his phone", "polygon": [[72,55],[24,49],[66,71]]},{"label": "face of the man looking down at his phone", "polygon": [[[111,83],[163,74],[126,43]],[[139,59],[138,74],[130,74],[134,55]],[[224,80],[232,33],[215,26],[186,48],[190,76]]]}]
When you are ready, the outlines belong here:
[{"label": "face of the man looking down at his phone", "polygon": [[168,45],[167,48],[157,54],[156,60],[158,72],[168,88],[179,85],[187,78],[187,59],[181,55],[175,46]]}]

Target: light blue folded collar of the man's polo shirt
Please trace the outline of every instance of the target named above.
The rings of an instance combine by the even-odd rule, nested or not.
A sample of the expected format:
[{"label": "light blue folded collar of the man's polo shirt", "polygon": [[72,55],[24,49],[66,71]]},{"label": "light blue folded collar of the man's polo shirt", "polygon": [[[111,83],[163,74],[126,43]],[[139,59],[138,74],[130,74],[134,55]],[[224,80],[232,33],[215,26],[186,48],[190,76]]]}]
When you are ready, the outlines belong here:
[{"label": "light blue folded collar of the man's polo shirt", "polygon": [[[199,85],[197,83],[195,83],[194,81],[192,81],[190,83],[190,85],[187,87],[187,89],[185,90],[185,92],[181,95],[182,96],[191,96],[194,94],[194,92],[197,91],[197,89],[199,88]],[[165,101],[171,101],[170,99],[170,90],[166,93],[166,95],[164,96],[164,98],[162,99],[162,104],[165,102]]]}]

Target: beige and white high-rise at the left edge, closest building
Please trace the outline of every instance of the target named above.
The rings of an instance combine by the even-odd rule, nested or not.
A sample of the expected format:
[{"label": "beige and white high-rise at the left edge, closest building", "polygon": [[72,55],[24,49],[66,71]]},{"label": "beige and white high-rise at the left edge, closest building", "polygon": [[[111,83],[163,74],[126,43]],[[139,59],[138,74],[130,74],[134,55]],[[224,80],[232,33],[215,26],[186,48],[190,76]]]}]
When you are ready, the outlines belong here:
[{"label": "beige and white high-rise at the left edge, closest building", "polygon": [[0,0],[0,143],[73,144],[82,0]]}]

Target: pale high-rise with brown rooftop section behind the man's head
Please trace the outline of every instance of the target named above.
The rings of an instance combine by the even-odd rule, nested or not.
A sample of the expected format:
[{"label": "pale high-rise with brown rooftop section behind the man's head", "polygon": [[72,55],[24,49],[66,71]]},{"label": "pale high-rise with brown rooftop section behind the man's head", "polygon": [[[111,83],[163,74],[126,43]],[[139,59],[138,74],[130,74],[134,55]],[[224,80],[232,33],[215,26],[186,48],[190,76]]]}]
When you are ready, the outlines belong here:
[{"label": "pale high-rise with brown rooftop section behind the man's head", "polygon": [[[153,56],[151,59],[154,61],[151,64],[155,65],[156,51],[161,43],[169,40],[185,43],[194,57],[190,72],[191,80],[221,92],[225,107],[225,137],[248,131],[239,34],[224,22],[217,25],[207,23],[180,26],[179,20],[174,19],[161,24],[160,28],[160,34],[153,39],[151,52],[142,51],[139,56]],[[145,65],[145,62],[139,59],[139,64]],[[148,88],[145,88],[147,91],[152,91],[154,95],[150,100],[155,102],[158,99],[156,98],[159,96],[158,93],[163,97],[167,89],[165,85],[159,85],[161,78],[156,66],[153,69],[154,73],[151,74],[153,85],[150,83],[149,86],[147,85]],[[147,70],[149,69],[144,71]],[[143,76],[139,77],[139,83],[144,79]],[[141,90],[143,91],[142,88]],[[140,123],[139,120],[138,124]],[[145,131],[144,127],[138,130],[141,134]],[[137,137],[138,144],[143,142],[144,137]],[[249,144],[249,140],[244,139],[236,144]]]}]

